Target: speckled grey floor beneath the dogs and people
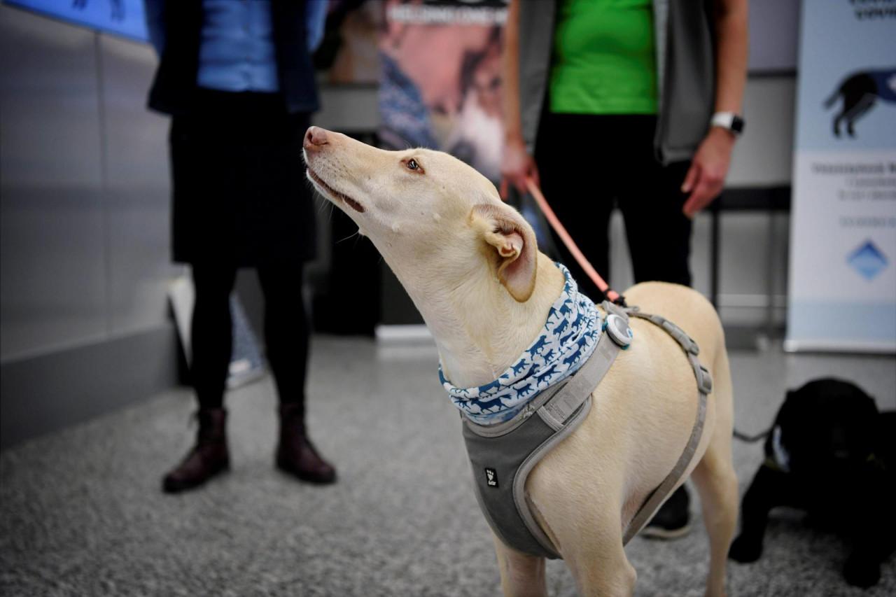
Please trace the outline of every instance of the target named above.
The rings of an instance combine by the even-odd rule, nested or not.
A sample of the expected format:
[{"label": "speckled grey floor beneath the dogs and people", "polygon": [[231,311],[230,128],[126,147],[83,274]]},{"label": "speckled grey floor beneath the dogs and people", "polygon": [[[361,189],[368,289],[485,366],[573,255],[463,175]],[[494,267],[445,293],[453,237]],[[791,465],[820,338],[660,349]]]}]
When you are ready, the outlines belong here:
[{"label": "speckled grey floor beneath the dogs and people", "polygon": [[[233,471],[171,497],[163,472],[189,446],[191,394],[149,402],[0,455],[2,595],[494,595],[499,580],[470,489],[457,413],[435,382],[435,350],[316,338],[309,379],[317,445],[340,482],[317,488],[272,467],[268,378],[228,395]],[[737,426],[766,428],[786,387],[823,375],[861,381],[896,407],[896,359],[732,354]],[[65,396],[60,396],[65,400]],[[382,414],[381,414],[382,413]],[[762,458],[736,443],[743,493]],[[632,541],[636,594],[700,595],[707,541]],[[873,590],[840,577],[845,546],[776,511],[762,559],[732,564],[729,593],[896,594],[896,561]],[[562,562],[552,595],[575,594]]]}]

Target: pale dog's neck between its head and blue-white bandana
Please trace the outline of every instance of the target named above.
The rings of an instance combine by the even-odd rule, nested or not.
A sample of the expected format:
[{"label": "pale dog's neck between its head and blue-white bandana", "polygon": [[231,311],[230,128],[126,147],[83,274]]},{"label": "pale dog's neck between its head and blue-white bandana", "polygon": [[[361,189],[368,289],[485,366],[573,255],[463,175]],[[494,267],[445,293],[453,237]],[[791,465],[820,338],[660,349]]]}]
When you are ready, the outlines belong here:
[{"label": "pale dog's neck between its head and blue-white bandana", "polygon": [[519,358],[545,324],[564,274],[538,254],[536,286],[517,302],[484,262],[447,288],[443,277],[396,271],[435,337],[444,376],[461,387],[486,384]]}]

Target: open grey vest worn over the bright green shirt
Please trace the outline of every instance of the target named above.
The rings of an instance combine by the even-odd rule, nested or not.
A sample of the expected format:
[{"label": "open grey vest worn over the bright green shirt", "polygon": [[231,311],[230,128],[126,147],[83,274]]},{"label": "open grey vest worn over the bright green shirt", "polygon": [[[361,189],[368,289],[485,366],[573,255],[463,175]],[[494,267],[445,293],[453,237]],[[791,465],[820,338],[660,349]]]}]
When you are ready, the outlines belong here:
[{"label": "open grey vest worn over the bright green shirt", "polygon": [[[520,2],[520,117],[522,138],[535,148],[538,120],[554,54],[556,4]],[[659,118],[653,146],[663,164],[690,160],[710,128],[715,106],[715,49],[711,3],[653,0]]]}]

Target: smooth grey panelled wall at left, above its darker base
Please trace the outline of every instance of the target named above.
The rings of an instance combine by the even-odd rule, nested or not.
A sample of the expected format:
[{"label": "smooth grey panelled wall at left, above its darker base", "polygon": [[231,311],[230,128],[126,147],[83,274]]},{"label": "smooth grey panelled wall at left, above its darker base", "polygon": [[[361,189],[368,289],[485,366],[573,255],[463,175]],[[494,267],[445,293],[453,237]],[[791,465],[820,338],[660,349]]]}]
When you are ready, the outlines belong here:
[{"label": "smooth grey panelled wall at left, above its darker base", "polygon": [[175,382],[154,64],[145,45],[0,5],[4,446]]}]

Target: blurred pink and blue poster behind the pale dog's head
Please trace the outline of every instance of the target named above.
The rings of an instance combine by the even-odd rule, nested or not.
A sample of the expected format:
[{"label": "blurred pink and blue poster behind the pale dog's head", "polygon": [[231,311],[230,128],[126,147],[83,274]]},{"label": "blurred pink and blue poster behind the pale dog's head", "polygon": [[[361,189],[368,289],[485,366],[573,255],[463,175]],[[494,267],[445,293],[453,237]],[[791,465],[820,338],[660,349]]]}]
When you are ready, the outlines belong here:
[{"label": "blurred pink and blue poster behind the pale dog's head", "polygon": [[498,180],[506,0],[386,0],[380,139],[448,151]]}]

